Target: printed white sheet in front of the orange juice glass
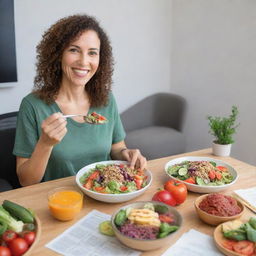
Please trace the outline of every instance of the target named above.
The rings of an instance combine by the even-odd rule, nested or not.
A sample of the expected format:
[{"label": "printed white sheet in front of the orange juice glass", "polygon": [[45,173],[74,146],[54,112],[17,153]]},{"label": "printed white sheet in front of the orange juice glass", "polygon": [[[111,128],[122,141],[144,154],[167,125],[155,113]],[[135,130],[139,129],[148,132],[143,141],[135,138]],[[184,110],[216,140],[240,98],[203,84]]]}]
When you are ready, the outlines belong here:
[{"label": "printed white sheet in front of the orange juice glass", "polygon": [[45,246],[65,256],[140,255],[115,237],[100,234],[99,224],[105,220],[110,220],[110,215],[93,210]]}]

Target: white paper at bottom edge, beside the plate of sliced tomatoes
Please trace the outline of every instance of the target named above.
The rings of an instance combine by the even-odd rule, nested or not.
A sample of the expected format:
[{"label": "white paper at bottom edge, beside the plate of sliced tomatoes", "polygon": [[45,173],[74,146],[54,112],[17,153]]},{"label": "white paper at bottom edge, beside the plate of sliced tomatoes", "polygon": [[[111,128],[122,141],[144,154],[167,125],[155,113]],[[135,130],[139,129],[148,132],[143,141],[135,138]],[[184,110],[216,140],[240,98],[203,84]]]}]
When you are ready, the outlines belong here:
[{"label": "white paper at bottom edge, beside the plate of sliced tomatoes", "polygon": [[222,256],[213,238],[195,229],[184,233],[162,256]]}]

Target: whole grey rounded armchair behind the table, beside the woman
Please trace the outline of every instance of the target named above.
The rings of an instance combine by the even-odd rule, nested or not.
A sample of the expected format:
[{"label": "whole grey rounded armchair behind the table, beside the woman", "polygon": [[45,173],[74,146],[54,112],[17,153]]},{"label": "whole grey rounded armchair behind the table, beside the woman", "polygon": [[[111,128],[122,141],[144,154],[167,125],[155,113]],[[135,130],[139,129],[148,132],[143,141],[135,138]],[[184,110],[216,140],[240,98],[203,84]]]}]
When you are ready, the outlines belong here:
[{"label": "whole grey rounded armchair behind the table, beside the woman", "polygon": [[121,113],[129,148],[148,159],[185,152],[183,126],[187,103],[176,94],[157,93]]}]

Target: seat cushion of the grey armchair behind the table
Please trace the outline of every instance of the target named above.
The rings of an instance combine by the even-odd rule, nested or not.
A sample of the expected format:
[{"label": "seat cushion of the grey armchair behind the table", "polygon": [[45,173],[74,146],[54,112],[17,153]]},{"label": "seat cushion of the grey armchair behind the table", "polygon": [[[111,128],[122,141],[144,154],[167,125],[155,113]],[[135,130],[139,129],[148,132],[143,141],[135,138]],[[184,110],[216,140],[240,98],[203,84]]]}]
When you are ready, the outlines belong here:
[{"label": "seat cushion of the grey armchair behind the table", "polygon": [[128,148],[140,149],[148,160],[185,151],[184,135],[163,126],[150,126],[127,132],[125,142]]}]

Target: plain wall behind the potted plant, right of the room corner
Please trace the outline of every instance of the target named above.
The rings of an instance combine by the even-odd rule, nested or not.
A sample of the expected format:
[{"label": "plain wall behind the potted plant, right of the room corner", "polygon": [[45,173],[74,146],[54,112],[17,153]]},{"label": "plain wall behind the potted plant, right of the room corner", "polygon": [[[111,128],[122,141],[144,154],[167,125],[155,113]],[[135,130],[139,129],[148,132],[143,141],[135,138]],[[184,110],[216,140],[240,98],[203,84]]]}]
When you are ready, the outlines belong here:
[{"label": "plain wall behind the potted plant, right of the room corner", "polygon": [[173,0],[172,90],[189,103],[187,150],[211,146],[207,115],[240,111],[232,156],[256,164],[256,1]]}]

